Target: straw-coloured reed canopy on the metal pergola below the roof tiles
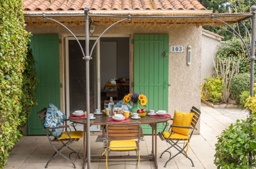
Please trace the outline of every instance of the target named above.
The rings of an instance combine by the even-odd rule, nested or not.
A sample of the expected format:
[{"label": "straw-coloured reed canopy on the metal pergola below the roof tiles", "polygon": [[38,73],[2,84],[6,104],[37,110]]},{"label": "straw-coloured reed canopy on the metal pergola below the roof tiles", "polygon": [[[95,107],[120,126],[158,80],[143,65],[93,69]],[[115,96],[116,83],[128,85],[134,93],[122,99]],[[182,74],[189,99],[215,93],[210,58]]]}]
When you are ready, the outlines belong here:
[{"label": "straw-coloured reed canopy on the metal pergola below the roof tiles", "polygon": [[[69,25],[84,25],[84,11],[28,11],[25,12],[27,25],[54,25],[49,20],[44,20],[42,15],[58,20]],[[130,16],[118,25],[143,25],[143,26],[173,26],[173,25],[195,25],[195,26],[223,26],[218,20],[227,24],[241,22],[252,16],[250,13],[212,13],[210,10],[100,10],[90,11],[90,20],[95,25],[106,25]]]}]

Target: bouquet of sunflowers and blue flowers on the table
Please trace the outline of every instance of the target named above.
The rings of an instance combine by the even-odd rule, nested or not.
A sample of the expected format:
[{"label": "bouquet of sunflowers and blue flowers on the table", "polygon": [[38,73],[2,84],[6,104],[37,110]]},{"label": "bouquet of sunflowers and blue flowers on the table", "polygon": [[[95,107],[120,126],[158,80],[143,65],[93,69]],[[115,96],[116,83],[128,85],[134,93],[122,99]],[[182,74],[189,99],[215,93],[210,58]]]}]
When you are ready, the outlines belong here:
[{"label": "bouquet of sunflowers and blue flowers on the table", "polygon": [[123,100],[125,104],[131,101],[133,103],[140,103],[142,106],[146,106],[148,102],[147,96],[136,92],[127,94]]}]

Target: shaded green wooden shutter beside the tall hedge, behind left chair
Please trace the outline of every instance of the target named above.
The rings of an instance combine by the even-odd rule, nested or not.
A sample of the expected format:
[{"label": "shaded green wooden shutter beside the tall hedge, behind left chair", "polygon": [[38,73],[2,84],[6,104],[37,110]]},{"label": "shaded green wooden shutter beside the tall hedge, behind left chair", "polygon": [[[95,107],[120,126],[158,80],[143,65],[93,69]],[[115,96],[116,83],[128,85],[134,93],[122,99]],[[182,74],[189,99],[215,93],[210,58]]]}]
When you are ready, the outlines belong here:
[{"label": "shaded green wooden shutter beside the tall hedge, behind left chair", "polygon": [[42,135],[43,127],[37,112],[47,108],[49,102],[60,108],[60,58],[58,52],[58,34],[36,34],[31,37],[30,48],[36,60],[36,85],[35,105],[31,110],[28,121],[29,135]]}]

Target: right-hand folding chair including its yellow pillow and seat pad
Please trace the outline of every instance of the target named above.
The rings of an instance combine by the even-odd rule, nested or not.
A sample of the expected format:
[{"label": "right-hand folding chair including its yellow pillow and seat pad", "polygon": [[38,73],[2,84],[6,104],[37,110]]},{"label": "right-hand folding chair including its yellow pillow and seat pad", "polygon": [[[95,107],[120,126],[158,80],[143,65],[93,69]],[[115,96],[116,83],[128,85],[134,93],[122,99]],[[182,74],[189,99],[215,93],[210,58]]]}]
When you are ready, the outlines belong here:
[{"label": "right-hand folding chair including its yellow pillow and seat pad", "polygon": [[[192,137],[193,131],[196,130],[195,125],[199,120],[200,114],[201,111],[195,107],[192,107],[190,113],[182,113],[175,111],[173,123],[172,125],[170,125],[168,132],[165,131],[167,126],[169,126],[169,123],[166,122],[163,132],[158,133],[161,140],[165,140],[167,143],[170,144],[170,147],[168,147],[168,149],[166,149],[160,156],[160,158],[162,158],[164,153],[169,153],[170,155],[164,167],[166,167],[167,163],[171,159],[173,159],[179,154],[183,154],[186,158],[188,158],[191,161],[192,166],[194,166],[193,161],[187,155],[187,151],[189,147],[189,140]],[[183,144],[183,147],[178,145],[180,143]],[[177,154],[173,156],[169,151],[172,147],[179,151]]]}]

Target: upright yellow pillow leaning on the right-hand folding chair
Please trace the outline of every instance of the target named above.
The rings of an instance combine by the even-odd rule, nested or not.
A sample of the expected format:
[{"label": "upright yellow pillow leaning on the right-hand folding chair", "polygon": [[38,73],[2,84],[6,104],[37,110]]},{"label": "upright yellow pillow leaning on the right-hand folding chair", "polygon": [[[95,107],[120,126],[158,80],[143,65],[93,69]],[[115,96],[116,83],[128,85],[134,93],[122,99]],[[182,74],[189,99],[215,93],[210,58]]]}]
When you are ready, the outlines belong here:
[{"label": "upright yellow pillow leaning on the right-hand folding chair", "polygon": [[[180,125],[180,126],[190,126],[194,113],[183,113],[175,110],[174,117],[173,117],[173,125]],[[190,129],[182,129],[182,128],[175,128],[173,127],[175,133],[179,133],[185,136],[189,135]]]}]

